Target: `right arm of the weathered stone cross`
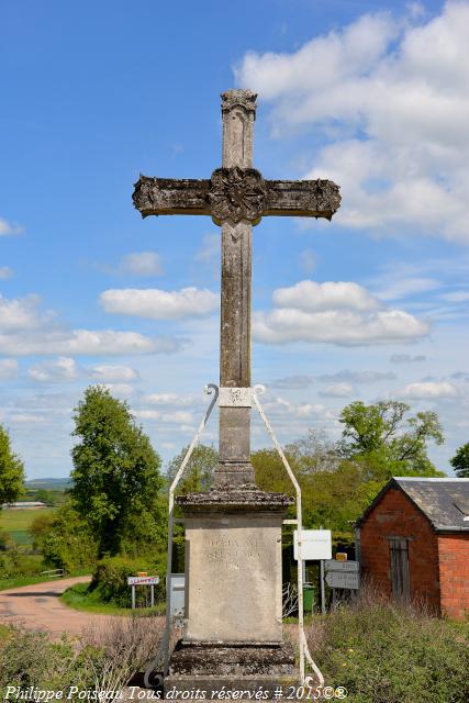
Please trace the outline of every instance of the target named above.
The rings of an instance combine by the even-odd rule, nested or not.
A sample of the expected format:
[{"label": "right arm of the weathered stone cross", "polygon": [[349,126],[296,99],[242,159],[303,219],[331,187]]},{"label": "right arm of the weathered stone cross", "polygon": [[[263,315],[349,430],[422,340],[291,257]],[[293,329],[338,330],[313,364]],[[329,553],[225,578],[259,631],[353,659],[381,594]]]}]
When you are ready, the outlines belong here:
[{"label": "right arm of the weathered stone cross", "polygon": [[326,217],[340,207],[339,188],[332,180],[266,180],[263,216]]}]

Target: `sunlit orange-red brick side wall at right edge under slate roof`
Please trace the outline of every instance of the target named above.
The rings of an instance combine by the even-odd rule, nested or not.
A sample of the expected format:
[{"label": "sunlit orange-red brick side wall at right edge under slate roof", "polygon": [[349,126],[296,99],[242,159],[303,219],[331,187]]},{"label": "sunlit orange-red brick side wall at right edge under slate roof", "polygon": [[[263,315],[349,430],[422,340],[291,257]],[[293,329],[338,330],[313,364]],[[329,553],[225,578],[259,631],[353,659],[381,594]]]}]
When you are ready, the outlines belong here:
[{"label": "sunlit orange-red brick side wall at right edge under slate roof", "polygon": [[469,613],[469,535],[438,535],[442,612],[462,618]]}]

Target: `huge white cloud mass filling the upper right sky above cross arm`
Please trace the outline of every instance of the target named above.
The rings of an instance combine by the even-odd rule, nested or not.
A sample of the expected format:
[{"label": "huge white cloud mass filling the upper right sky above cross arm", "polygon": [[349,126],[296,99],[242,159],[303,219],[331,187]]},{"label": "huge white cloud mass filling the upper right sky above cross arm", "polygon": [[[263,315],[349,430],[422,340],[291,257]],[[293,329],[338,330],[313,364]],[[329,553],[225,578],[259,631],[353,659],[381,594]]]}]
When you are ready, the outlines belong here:
[{"label": "huge white cloud mass filling the upper right sky above cross arm", "polygon": [[248,53],[238,83],[272,102],[273,133],[323,130],[306,178],[340,185],[338,224],[469,243],[469,3],[366,14],[298,51]]}]

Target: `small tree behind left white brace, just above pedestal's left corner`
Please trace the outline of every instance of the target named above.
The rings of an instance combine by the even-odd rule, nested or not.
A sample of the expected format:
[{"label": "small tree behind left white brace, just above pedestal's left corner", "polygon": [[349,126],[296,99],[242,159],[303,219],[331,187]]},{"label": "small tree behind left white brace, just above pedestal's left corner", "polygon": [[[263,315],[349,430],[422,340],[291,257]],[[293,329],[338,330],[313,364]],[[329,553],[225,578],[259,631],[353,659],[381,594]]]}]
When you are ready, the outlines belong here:
[{"label": "small tree behind left white brace, just above pedestal's left corner", "polygon": [[[183,458],[189,449],[189,445],[174,457],[168,464],[166,475],[168,477],[168,486],[174,481],[176,473],[181,466]],[[213,445],[198,445],[185,472],[179,481],[177,493],[192,493],[208,491],[213,483],[213,475],[219,462],[219,453]]]}]

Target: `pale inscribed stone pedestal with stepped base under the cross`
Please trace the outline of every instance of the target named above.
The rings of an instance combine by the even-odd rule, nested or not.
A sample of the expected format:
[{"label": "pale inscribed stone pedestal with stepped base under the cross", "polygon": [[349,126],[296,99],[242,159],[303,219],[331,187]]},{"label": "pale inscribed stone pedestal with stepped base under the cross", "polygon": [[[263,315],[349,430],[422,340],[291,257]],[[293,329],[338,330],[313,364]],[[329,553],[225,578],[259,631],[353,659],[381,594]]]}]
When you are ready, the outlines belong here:
[{"label": "pale inscribed stone pedestal with stepped base under the cross", "polygon": [[269,691],[297,680],[282,640],[281,525],[292,499],[256,488],[177,499],[186,523],[186,617],[165,695],[222,687]]}]

